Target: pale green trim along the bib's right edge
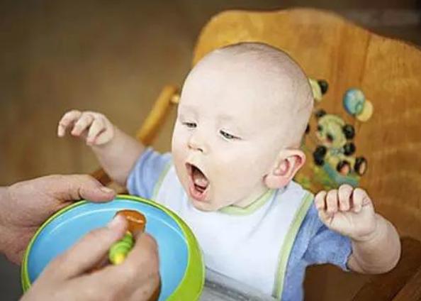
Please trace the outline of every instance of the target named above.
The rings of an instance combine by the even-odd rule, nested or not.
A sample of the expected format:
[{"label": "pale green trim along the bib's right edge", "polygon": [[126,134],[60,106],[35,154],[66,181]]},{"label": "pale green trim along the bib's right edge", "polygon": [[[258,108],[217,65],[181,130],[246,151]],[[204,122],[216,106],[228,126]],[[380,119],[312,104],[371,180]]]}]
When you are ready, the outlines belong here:
[{"label": "pale green trim along the bib's right edge", "polygon": [[308,209],[311,204],[313,204],[313,195],[306,193],[301,202],[300,208],[296,212],[296,216],[293,219],[293,222],[289,226],[288,233],[285,236],[284,243],[281,247],[281,252],[279,253],[278,261],[278,270],[276,272],[274,291],[272,295],[279,300],[282,296],[284,290],[284,281],[286,274],[286,266],[288,265],[289,255],[293,247],[293,243],[296,240],[298,230],[300,229],[301,223],[307,214]]}]

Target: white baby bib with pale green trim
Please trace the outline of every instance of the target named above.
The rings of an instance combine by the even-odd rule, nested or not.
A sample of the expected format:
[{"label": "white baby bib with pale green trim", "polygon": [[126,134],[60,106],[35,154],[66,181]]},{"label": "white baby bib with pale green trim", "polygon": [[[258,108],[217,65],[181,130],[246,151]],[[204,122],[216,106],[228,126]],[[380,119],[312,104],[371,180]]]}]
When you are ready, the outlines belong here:
[{"label": "white baby bib with pale green trim", "polygon": [[232,207],[202,212],[189,202],[174,165],[169,165],[152,199],[186,221],[203,250],[207,268],[279,299],[289,253],[313,195],[291,182],[284,190],[269,190],[264,197],[269,200],[251,213],[232,213]]}]

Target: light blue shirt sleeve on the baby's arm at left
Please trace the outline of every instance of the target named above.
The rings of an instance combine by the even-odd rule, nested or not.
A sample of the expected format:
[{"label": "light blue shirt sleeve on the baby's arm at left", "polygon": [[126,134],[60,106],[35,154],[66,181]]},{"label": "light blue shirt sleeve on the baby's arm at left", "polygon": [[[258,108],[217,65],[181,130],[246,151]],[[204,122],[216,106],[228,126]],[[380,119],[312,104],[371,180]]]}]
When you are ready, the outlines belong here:
[{"label": "light blue shirt sleeve on the baby's arm at left", "polygon": [[171,153],[161,154],[152,148],[145,149],[128,176],[127,189],[130,195],[150,199],[159,176],[171,161]]}]

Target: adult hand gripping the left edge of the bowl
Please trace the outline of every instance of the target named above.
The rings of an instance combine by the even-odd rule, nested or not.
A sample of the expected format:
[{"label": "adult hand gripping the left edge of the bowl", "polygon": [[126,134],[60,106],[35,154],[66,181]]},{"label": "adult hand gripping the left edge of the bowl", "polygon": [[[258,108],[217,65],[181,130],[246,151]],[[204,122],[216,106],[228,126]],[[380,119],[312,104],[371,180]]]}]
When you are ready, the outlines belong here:
[{"label": "adult hand gripping the left edge of the bowl", "polygon": [[0,188],[0,248],[13,263],[38,227],[75,200],[109,201],[115,192],[89,175],[50,175]]}]

